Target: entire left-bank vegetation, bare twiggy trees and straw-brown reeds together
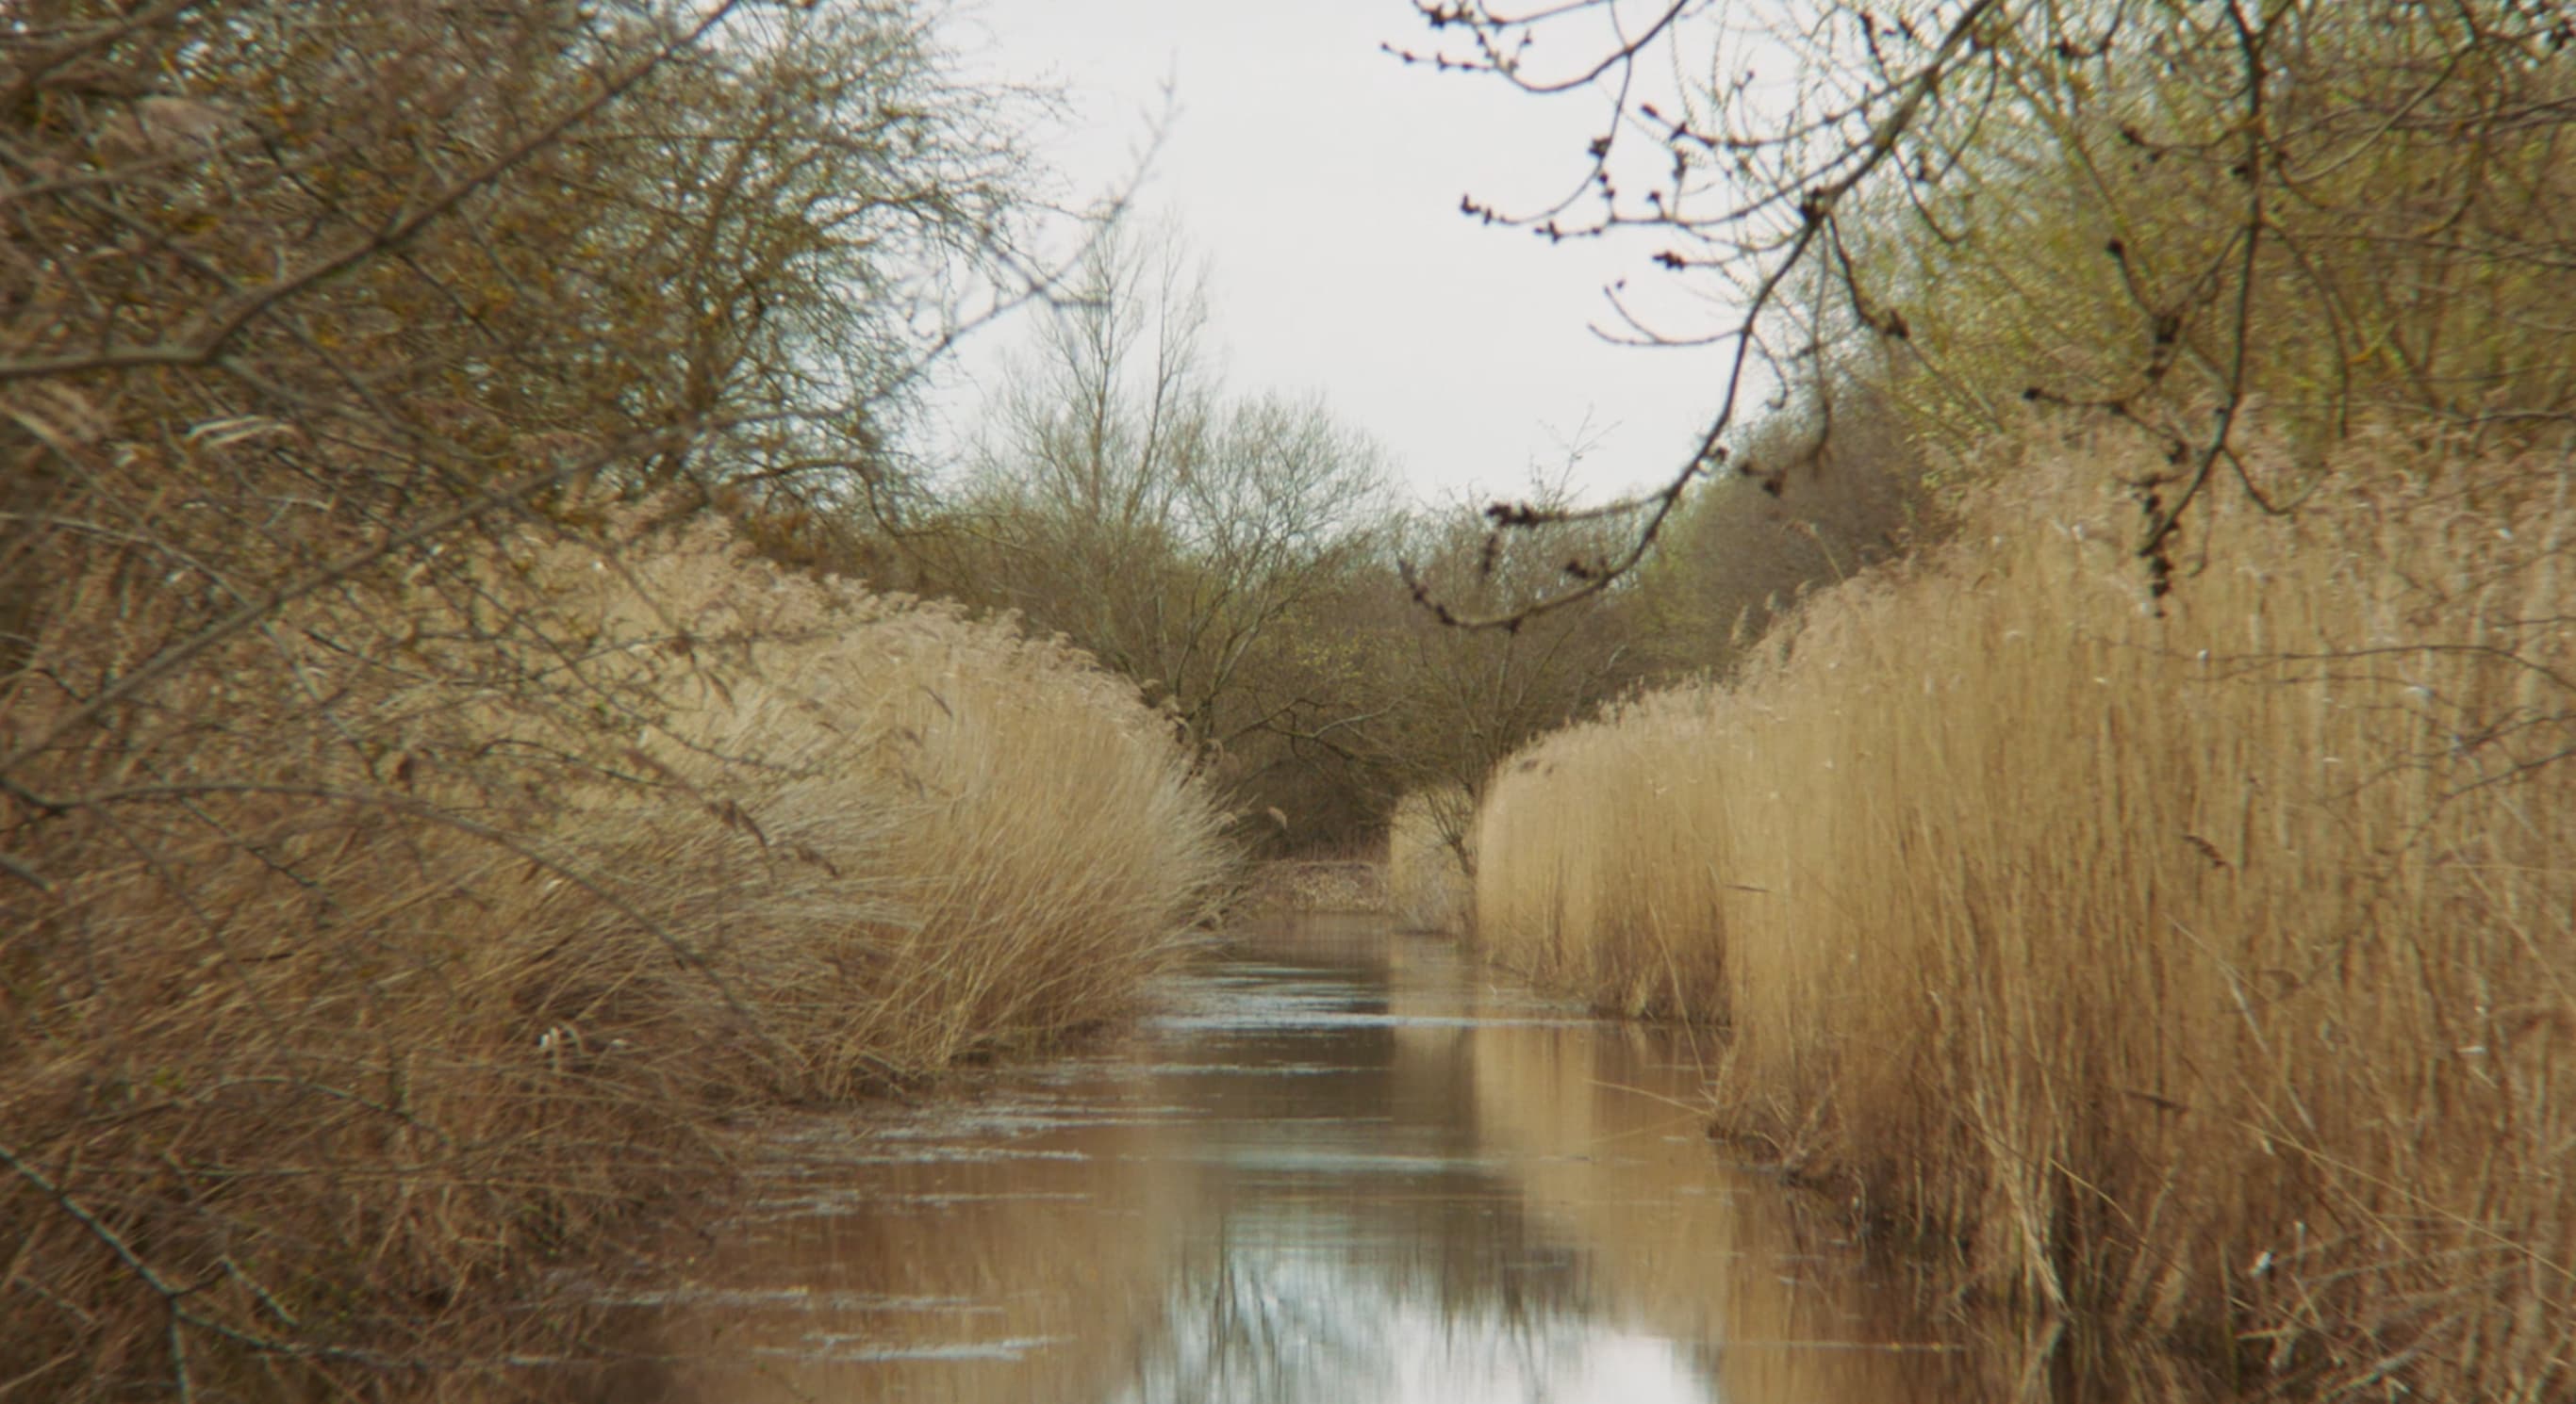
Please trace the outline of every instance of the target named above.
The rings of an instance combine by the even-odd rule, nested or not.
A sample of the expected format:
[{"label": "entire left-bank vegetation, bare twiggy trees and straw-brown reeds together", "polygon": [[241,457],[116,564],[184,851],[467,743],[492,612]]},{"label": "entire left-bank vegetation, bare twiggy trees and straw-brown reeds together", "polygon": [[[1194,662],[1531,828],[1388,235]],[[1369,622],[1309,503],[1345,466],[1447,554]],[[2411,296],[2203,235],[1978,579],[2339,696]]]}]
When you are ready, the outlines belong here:
[{"label": "entire left-bank vegetation, bare twiggy trees and straw-brown reeds together", "polygon": [[0,13],[0,1396],[492,1396],[742,1113],[1188,940],[1131,685],[721,520],[1041,273],[1025,106],[894,0]]}]

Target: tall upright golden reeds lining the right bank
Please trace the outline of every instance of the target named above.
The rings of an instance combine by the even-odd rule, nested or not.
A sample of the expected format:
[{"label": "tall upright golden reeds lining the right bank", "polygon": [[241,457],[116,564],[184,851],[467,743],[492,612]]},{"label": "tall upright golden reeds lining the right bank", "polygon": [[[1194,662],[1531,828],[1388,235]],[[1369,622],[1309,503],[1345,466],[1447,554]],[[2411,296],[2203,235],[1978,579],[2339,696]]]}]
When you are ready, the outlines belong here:
[{"label": "tall upright golden reeds lining the right bank", "polygon": [[1721,1123],[1971,1280],[2321,1394],[2576,1391],[2576,500],[2372,441],[2038,453],[1734,685],[1507,763],[1492,951],[1731,1025]]}]

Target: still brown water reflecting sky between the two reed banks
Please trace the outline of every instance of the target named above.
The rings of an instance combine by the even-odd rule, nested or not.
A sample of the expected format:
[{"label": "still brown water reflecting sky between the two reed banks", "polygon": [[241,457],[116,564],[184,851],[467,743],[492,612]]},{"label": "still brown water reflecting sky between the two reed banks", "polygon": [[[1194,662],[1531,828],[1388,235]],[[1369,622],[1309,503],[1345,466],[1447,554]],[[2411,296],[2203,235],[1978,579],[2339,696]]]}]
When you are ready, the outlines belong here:
[{"label": "still brown water reflecting sky between the two reed banks", "polygon": [[1989,1396],[1703,1139],[1687,1041],[1373,920],[1242,933],[963,1105],[783,1136],[618,1304],[598,1399],[1901,1404]]}]

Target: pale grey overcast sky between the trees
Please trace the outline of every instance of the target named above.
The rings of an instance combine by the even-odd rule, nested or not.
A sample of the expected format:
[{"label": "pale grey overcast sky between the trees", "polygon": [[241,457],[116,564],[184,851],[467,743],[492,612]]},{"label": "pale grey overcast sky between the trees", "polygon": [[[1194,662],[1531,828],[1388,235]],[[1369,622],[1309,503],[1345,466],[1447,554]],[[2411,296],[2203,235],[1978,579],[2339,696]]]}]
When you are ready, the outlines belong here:
[{"label": "pale grey overcast sky between the trees", "polygon": [[[1404,67],[1409,0],[961,0],[951,44],[987,77],[1054,80],[1077,124],[1046,155],[1077,191],[1133,170],[1172,88],[1141,191],[1213,268],[1213,335],[1234,389],[1319,392],[1386,446],[1422,497],[1520,492],[1589,420],[1579,487],[1669,477],[1721,376],[1710,350],[1615,348],[1602,286],[1649,283],[1654,245],[1548,245],[1458,214],[1582,178],[1600,98],[1538,100],[1492,77]],[[1687,319],[1674,289],[1674,319]],[[1030,327],[969,345],[951,425]]]}]

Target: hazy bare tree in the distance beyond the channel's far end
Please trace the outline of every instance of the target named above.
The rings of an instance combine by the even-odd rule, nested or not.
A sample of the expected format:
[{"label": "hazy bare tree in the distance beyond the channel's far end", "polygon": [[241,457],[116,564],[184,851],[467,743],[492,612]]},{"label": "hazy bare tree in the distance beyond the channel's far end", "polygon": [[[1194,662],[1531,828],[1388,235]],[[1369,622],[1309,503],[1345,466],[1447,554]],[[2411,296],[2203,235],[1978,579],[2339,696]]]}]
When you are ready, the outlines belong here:
[{"label": "hazy bare tree in the distance beyond the channel's far end", "polygon": [[1095,247],[953,508],[956,590],[1059,629],[1229,755],[1324,698],[1296,652],[1376,559],[1383,456],[1311,399],[1229,394],[1177,242]]}]

